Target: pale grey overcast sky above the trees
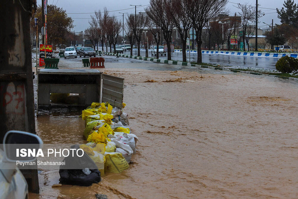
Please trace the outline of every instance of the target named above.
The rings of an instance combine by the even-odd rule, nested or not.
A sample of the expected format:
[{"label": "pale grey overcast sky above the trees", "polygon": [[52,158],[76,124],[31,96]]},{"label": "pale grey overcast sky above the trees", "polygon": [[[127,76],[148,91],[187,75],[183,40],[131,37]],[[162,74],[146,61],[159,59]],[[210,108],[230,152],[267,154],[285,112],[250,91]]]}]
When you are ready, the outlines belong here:
[{"label": "pale grey overcast sky above the trees", "polygon": [[[229,9],[231,15],[235,15],[235,13],[239,12],[239,9],[235,7],[237,5],[236,3],[243,4],[245,2],[248,2],[253,6],[256,4],[256,0],[229,0],[226,8]],[[267,25],[263,24],[263,22],[266,24],[271,24],[272,19],[274,20],[274,24],[280,24],[280,19],[277,18],[276,8],[281,9],[283,7],[283,2],[284,0],[258,0],[260,7],[259,9],[265,13],[265,16],[260,18],[258,24],[260,28],[268,27]],[[41,0],[38,0],[38,3],[40,4]],[[62,7],[64,10],[66,10],[68,16],[72,17],[74,20],[75,27],[73,30],[75,30],[75,32],[80,32],[89,27],[88,20],[90,20],[90,15],[92,15],[91,13],[94,13],[95,10],[103,11],[104,7],[107,7],[109,11],[117,10],[110,12],[110,14],[119,16],[118,19],[122,21],[122,14],[119,12],[129,14],[134,13],[135,7],[130,6],[130,4],[142,5],[141,7],[136,8],[136,12],[144,12],[145,7],[147,7],[149,4],[149,0],[48,0],[48,4],[56,4],[58,7]]]}]

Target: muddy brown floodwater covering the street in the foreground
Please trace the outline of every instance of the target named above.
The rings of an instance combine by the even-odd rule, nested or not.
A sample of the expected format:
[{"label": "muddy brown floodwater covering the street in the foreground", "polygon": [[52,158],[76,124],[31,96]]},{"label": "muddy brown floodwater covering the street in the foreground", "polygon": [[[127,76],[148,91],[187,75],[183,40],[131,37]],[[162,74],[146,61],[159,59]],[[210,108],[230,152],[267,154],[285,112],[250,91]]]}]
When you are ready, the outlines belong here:
[{"label": "muddy brown floodwater covering the street in the foreground", "polygon": [[[58,171],[40,171],[41,193],[31,198],[298,198],[297,83],[211,70],[101,71],[125,78],[124,112],[140,140],[133,163],[90,187],[52,188]],[[36,120],[44,143],[86,142],[80,113],[58,112]]]}]

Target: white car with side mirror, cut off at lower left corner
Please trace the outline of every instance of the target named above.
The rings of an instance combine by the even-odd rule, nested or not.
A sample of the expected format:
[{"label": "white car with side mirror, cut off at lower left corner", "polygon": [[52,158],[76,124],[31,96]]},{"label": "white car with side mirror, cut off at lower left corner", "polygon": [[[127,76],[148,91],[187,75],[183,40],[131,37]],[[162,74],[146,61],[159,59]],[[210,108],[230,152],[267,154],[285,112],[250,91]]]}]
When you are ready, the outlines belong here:
[{"label": "white car with side mirror, cut off at lower left corner", "polygon": [[13,156],[15,148],[11,146],[15,144],[38,144],[39,148],[42,148],[43,143],[37,135],[22,131],[8,131],[3,140],[4,151],[0,149],[0,198],[27,199],[28,184],[16,162],[31,162],[35,161],[36,157],[16,158]]}]

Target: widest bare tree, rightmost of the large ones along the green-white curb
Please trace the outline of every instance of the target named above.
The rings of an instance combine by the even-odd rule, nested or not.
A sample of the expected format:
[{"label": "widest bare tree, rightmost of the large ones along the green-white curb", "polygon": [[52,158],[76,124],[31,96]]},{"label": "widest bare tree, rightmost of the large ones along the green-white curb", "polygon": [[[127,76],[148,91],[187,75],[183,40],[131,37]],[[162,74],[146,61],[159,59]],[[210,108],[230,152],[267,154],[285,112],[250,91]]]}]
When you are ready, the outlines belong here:
[{"label": "widest bare tree, rightmost of the large ones along the green-white curb", "polygon": [[195,29],[195,41],[198,45],[198,56],[197,62],[202,62],[202,51],[201,51],[201,36],[202,29],[205,24],[213,17],[217,16],[224,7],[228,0],[181,0],[184,1],[186,6],[187,14],[190,16]]}]

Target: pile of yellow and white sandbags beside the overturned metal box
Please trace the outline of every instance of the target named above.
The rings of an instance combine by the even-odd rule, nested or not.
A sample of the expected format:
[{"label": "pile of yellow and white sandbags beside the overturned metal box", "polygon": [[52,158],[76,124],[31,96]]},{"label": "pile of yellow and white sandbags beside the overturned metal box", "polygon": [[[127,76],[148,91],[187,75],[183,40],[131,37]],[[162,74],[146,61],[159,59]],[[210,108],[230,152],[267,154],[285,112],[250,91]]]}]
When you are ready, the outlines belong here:
[{"label": "pile of yellow and white sandbags beside the overturned metal box", "polygon": [[80,148],[95,162],[101,176],[104,172],[121,173],[128,169],[138,137],[131,133],[127,114],[109,103],[93,102],[82,111],[82,118],[88,143]]}]

